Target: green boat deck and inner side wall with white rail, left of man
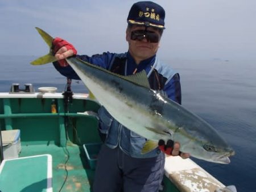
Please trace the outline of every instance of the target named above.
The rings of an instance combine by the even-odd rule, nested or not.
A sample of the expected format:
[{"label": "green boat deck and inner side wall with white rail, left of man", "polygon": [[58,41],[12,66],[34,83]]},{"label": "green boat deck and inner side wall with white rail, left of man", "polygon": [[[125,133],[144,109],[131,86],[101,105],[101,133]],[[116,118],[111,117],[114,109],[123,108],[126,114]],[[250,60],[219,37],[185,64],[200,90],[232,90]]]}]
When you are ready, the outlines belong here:
[{"label": "green boat deck and inner side wall with white rail, left of man", "polygon": [[[51,112],[52,99],[57,113]],[[0,126],[20,130],[19,157],[52,156],[53,191],[92,191],[94,170],[82,145],[100,142],[100,137],[97,118],[83,112],[99,107],[85,94],[74,94],[66,111],[61,93],[2,93]]]}]

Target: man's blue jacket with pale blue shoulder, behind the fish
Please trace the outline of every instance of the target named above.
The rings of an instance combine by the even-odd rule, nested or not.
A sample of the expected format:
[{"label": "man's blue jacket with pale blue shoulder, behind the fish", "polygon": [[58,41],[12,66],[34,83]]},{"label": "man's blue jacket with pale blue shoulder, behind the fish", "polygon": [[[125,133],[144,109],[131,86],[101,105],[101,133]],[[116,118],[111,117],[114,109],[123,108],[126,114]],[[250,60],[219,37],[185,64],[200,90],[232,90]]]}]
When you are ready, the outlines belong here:
[{"label": "man's blue jacket with pale blue shoulder, behind the fish", "polygon": [[[170,65],[160,62],[156,56],[143,60],[138,65],[129,52],[121,54],[106,52],[102,53],[102,55],[93,55],[92,57],[86,55],[77,55],[77,57],[124,76],[133,74],[134,71],[140,72],[145,70],[151,89],[162,90],[167,94],[168,98],[181,104],[179,74]],[[64,76],[80,80],[71,66],[63,68],[57,62],[54,62],[53,65]],[[108,147],[119,147],[127,155],[137,158],[159,155],[160,151],[158,148],[142,155],[141,149],[147,139],[118,123],[103,106],[98,110],[98,115],[100,118],[100,132],[106,134],[105,144]]]}]

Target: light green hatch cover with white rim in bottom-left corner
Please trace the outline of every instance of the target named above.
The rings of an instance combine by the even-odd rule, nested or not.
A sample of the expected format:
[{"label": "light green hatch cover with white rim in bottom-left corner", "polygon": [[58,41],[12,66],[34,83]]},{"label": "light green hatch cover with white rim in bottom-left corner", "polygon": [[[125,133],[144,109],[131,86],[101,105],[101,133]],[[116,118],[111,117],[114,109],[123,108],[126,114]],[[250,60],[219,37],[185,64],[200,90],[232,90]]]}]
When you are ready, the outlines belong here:
[{"label": "light green hatch cover with white rim in bottom-left corner", "polygon": [[1,167],[0,191],[52,191],[50,155],[10,159],[3,161]]}]

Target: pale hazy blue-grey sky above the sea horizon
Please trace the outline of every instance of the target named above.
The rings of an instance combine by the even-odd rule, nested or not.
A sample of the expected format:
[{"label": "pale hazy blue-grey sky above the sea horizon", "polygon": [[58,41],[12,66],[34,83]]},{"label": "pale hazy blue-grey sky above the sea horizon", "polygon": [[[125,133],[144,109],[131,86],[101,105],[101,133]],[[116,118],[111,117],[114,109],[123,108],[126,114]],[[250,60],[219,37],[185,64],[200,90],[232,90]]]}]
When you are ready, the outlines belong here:
[{"label": "pale hazy blue-grey sky above the sea horizon", "polygon": [[[127,51],[131,0],[0,0],[0,55],[41,56],[35,27],[72,43],[80,55]],[[164,59],[256,60],[255,0],[158,0],[166,30]]]}]

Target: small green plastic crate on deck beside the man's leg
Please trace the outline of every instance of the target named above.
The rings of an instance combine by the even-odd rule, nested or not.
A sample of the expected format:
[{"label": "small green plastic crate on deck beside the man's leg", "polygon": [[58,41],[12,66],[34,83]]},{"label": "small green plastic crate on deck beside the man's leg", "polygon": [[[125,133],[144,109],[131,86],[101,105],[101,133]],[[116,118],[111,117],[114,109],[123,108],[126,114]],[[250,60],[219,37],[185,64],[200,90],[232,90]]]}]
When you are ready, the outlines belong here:
[{"label": "small green plastic crate on deck beside the man's leg", "polygon": [[82,145],[84,147],[84,151],[86,157],[88,159],[90,169],[95,169],[97,164],[98,153],[100,152],[102,143],[86,143]]}]

